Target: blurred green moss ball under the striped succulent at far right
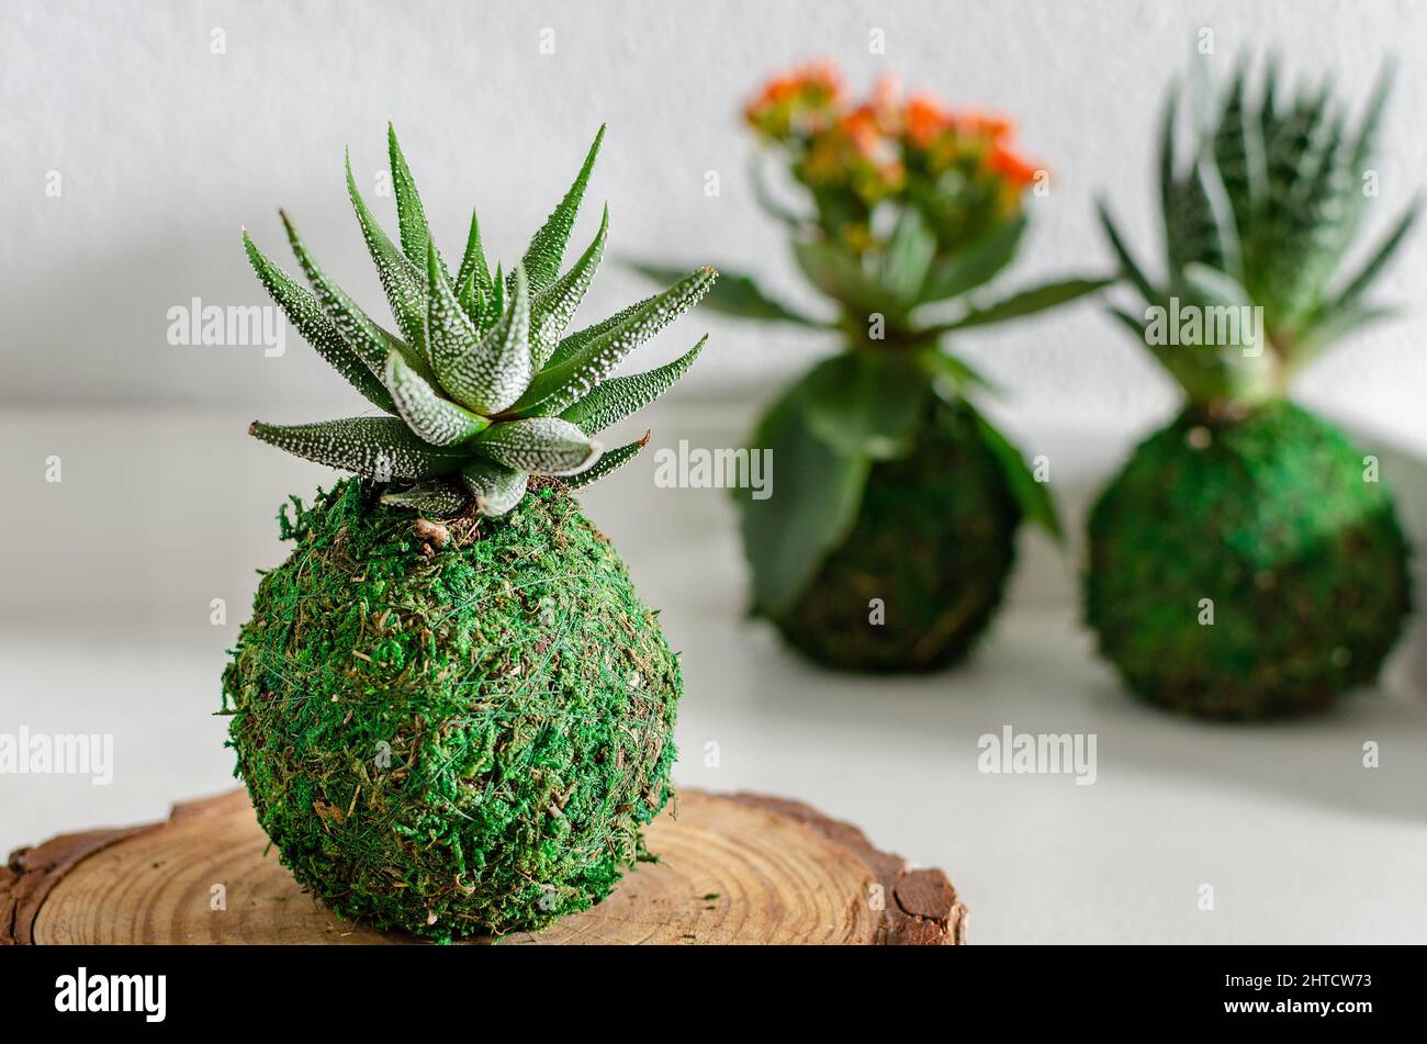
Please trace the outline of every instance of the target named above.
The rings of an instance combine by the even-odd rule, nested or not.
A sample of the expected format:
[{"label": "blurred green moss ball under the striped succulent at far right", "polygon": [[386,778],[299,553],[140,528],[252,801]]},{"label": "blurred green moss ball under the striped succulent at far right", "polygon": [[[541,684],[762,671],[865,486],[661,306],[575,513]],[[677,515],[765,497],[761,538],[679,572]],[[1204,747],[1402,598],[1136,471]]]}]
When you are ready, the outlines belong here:
[{"label": "blurred green moss ball under the striped succulent at far right", "polygon": [[1140,445],[1090,515],[1086,579],[1087,619],[1130,689],[1196,715],[1267,717],[1371,682],[1410,582],[1367,468],[1287,402],[1237,422],[1187,411]]}]

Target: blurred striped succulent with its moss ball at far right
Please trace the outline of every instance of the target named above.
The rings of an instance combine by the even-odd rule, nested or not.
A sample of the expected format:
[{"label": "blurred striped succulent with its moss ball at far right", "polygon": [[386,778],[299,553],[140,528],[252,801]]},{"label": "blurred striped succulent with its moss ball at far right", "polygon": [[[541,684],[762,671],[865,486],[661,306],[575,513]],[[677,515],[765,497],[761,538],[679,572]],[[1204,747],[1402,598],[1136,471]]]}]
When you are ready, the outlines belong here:
[{"label": "blurred striped succulent with its moss ball at far right", "polygon": [[1187,150],[1173,88],[1160,130],[1164,275],[1110,247],[1144,311],[1119,319],[1179,381],[1179,418],[1090,515],[1086,615],[1146,700],[1213,717],[1326,706],[1371,682],[1408,609],[1406,545],[1371,458],[1284,398],[1344,334],[1387,314],[1367,291],[1411,228],[1344,265],[1388,78],[1350,120],[1327,86],[1254,90],[1240,63],[1200,91]]}]

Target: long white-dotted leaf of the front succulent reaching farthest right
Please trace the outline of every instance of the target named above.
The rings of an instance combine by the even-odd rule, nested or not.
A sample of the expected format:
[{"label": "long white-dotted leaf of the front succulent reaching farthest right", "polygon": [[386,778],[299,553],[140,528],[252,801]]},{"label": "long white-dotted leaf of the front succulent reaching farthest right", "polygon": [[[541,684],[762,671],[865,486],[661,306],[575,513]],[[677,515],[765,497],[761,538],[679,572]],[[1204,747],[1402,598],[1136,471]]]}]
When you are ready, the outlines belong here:
[{"label": "long white-dotted leaf of the front succulent reaching farthest right", "polygon": [[698,304],[715,278],[718,272],[712,268],[701,268],[656,294],[624,322],[589,338],[568,361],[542,369],[512,412],[524,416],[561,414],[608,378],[625,355]]}]

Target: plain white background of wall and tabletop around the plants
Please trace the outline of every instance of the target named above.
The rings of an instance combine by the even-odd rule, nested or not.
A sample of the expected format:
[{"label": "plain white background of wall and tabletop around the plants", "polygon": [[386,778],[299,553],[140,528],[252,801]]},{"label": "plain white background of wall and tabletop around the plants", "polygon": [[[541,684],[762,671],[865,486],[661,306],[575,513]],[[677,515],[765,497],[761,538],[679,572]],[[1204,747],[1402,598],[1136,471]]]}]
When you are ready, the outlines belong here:
[{"label": "plain white background of wall and tabletop around the plants", "polygon": [[[801,58],[838,58],[859,88],[895,70],[1017,118],[1056,181],[1032,204],[1012,284],[1106,267],[1096,194],[1142,254],[1157,242],[1153,126],[1202,27],[1220,67],[1240,47],[1273,46],[1356,100],[1397,53],[1371,231],[1427,181],[1427,7],[1407,3],[11,3],[0,20],[0,730],[107,732],[117,759],[110,787],[0,776],[0,850],[156,819],[174,799],[231,786],[211,716],[223,653],[254,569],[285,553],[278,502],[331,478],[245,425],[364,404],[295,337],[277,359],[178,348],[166,312],[193,297],[263,302],[238,228],[284,257],[278,205],[380,312],[341,153],[351,144],[374,185],[388,118],[448,252],[477,203],[488,245],[517,257],[608,121],[591,195],[611,203],[614,255],[752,268],[809,307],[749,200],[752,143],[736,117],[768,73]],[[210,53],[214,27],[225,54]],[[538,51],[547,27],[554,56]],[[868,54],[872,27],[886,56]],[[60,198],[44,195],[51,170]],[[718,198],[704,195],[709,170]],[[390,215],[390,200],[372,203]],[[595,221],[591,208],[577,237]],[[1404,318],[1343,345],[1299,392],[1384,449],[1418,543],[1427,481],[1393,448],[1427,449],[1424,275],[1418,235],[1380,287]],[[642,292],[606,262],[588,315]],[[656,446],[728,445],[831,348],[699,315],[638,362],[672,358],[705,328],[699,365],[648,416]],[[968,337],[965,351],[1007,387],[995,409],[1025,451],[1052,458],[1072,531],[1133,439],[1174,409],[1173,388],[1090,304]],[[61,483],[44,482],[50,455]],[[718,491],[656,489],[645,459],[588,505],[684,655],[679,780],[811,800],[943,866],[977,941],[1427,938],[1420,622],[1384,685],[1324,717],[1186,723],[1124,697],[1079,629],[1076,545],[1062,556],[1027,533],[1010,609],[970,667],[838,677],[742,619],[743,568]],[[215,598],[228,608],[220,626]],[[977,773],[977,737],[1006,723],[1096,732],[1099,782]],[[1383,747],[1373,772],[1368,740]],[[718,767],[704,763],[709,742]],[[1216,889],[1214,913],[1196,906],[1202,884]]]}]

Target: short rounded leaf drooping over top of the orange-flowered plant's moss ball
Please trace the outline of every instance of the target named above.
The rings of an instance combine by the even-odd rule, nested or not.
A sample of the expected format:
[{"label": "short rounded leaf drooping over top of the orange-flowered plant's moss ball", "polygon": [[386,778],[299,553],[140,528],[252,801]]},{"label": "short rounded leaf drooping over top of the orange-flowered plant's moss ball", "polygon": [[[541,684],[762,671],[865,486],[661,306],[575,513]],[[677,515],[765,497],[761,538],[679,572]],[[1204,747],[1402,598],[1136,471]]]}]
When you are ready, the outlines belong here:
[{"label": "short rounded leaf drooping over top of the orange-flowered plant's moss ball", "polygon": [[843,456],[886,461],[912,448],[930,384],[913,359],[856,351],[818,364],[801,385],[808,431]]}]

